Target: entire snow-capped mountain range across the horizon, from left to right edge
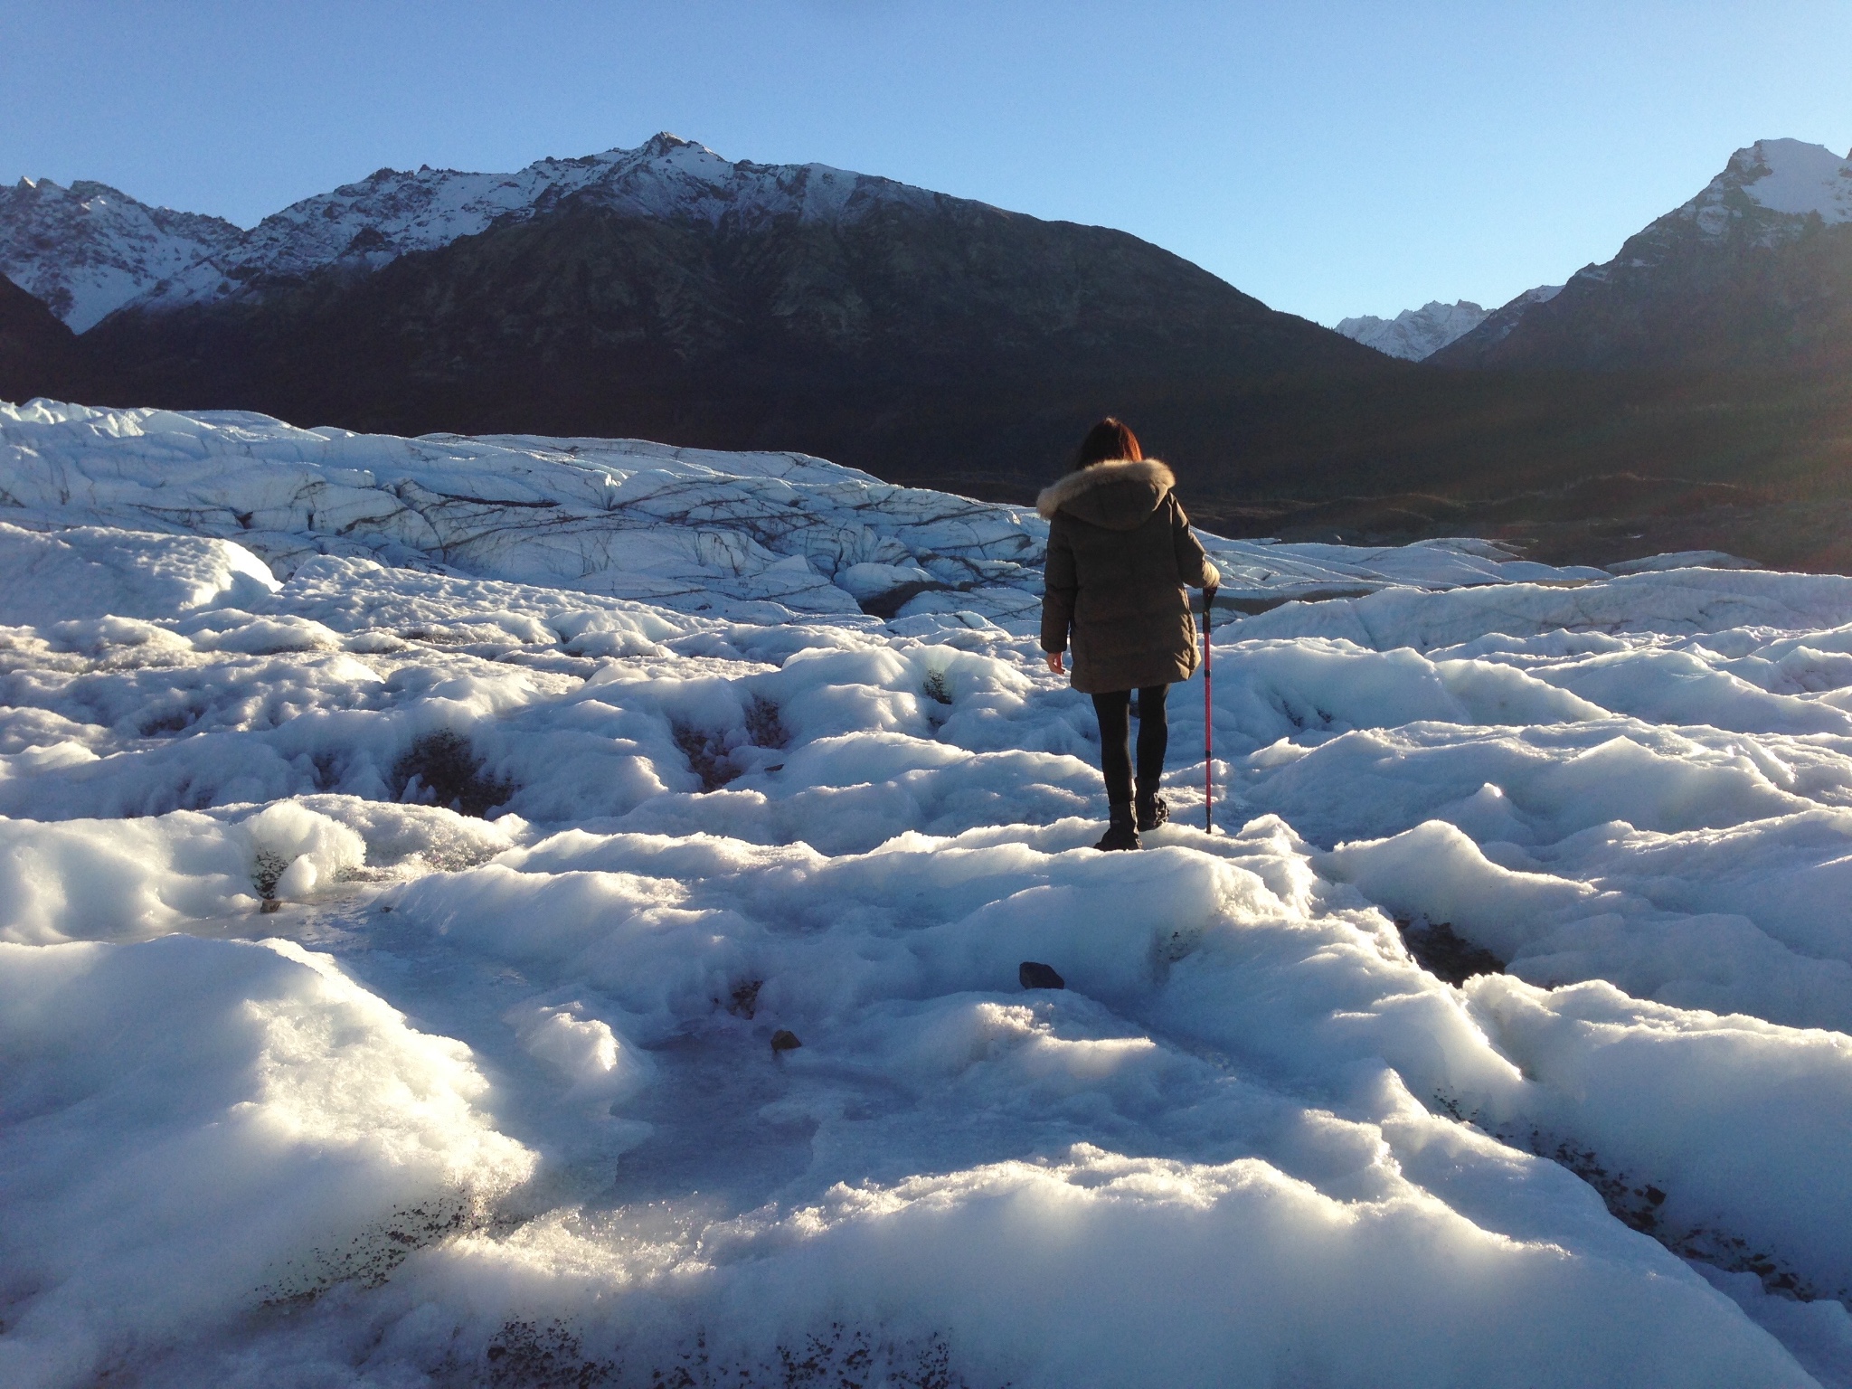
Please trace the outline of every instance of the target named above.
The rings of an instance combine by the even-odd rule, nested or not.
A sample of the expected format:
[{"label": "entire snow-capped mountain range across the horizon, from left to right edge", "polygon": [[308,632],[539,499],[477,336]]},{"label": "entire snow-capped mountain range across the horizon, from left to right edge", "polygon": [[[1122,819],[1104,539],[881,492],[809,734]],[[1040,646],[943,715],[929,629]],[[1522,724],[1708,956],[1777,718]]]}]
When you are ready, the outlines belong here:
[{"label": "entire snow-capped mountain range across the horizon, from left to right edge", "polygon": [[0,270],[30,291],[0,285],[4,398],[793,448],[1009,500],[1115,411],[1233,533],[1606,563],[1669,530],[1743,548],[1743,517],[1806,498],[1815,539],[1748,552],[1852,563],[1822,530],[1852,465],[1852,161],[1798,141],[1563,287],[1343,332],[1122,232],[674,135],[380,170],[248,232],[20,181]]}]

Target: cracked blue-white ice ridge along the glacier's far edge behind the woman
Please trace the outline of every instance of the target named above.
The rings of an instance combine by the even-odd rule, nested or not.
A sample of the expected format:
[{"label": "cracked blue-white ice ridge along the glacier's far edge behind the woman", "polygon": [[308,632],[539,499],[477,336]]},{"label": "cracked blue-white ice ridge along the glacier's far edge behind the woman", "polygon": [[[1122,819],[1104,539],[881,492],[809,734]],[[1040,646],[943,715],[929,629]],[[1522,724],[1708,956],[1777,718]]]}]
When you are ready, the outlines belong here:
[{"label": "cracked blue-white ice ridge along the glacier's far edge behind the woman", "polygon": [[[298,430],[237,411],[0,404],[15,524],[215,535],[282,574],[315,556],[541,582],[683,611],[1032,619],[1046,522],[804,454],[639,439]],[[74,500],[81,498],[81,500]],[[1209,537],[1228,598],[1446,589],[1600,570],[1487,541],[1406,548]]]}]

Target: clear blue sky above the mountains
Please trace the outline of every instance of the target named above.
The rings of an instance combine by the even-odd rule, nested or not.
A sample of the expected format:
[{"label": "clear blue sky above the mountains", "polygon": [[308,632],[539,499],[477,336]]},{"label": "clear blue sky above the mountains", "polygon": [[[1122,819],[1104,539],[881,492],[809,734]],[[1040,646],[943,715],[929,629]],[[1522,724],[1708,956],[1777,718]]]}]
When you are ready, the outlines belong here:
[{"label": "clear blue sky above the mountains", "polygon": [[1119,226],[1320,322],[1498,304],[1765,135],[1852,146],[1852,4],[0,0],[0,180],[250,224],[657,130]]}]

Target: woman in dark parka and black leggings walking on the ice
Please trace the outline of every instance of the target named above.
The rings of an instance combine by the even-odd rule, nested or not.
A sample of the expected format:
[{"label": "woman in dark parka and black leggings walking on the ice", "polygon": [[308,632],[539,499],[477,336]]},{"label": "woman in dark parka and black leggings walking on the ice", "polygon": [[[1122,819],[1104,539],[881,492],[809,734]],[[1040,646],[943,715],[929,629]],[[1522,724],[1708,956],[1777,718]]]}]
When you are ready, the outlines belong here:
[{"label": "woman in dark parka and black leggings walking on the ice", "polygon": [[[1220,582],[1176,500],[1176,478],[1145,457],[1124,424],[1087,430],[1072,470],[1035,498],[1048,519],[1041,644],[1061,674],[1074,646],[1074,689],[1093,694],[1100,770],[1111,824],[1095,848],[1141,848],[1139,830],[1169,819],[1163,778],[1165,694],[1196,669],[1189,589]],[[1139,694],[1139,774],[1133,813],[1130,717]]]}]

